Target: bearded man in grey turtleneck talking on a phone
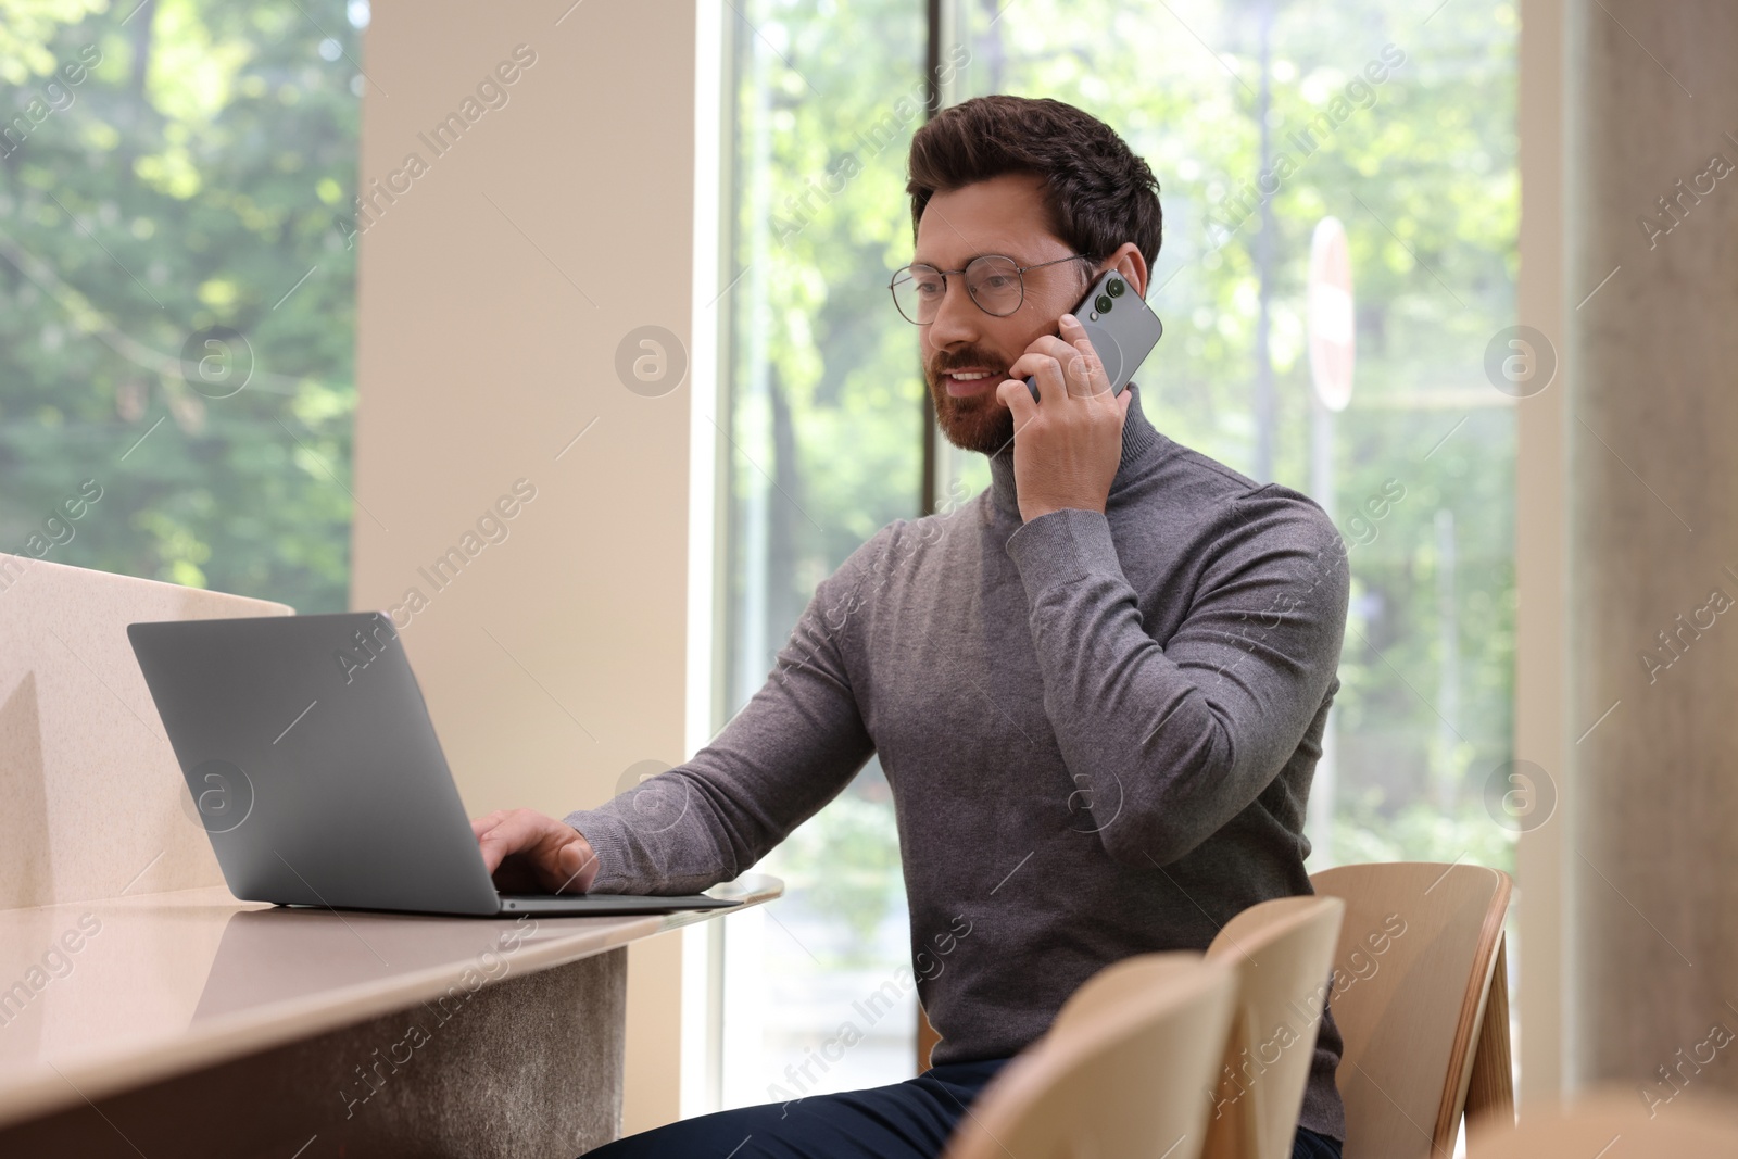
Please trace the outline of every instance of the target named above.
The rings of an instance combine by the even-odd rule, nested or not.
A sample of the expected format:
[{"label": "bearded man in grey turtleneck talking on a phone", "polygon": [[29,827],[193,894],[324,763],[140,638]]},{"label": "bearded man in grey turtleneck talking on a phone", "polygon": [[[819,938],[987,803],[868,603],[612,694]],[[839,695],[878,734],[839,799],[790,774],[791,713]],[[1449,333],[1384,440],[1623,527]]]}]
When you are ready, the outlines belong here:
[{"label": "bearded man in grey turtleneck talking on a phone", "polygon": [[[681,768],[565,822],[474,829],[502,888],[688,893],[754,865],[879,754],[935,1065],[598,1156],[939,1156],[1093,973],[1204,949],[1248,905],[1310,891],[1343,544],[1304,495],[1156,431],[1133,384],[1112,396],[1065,313],[1111,268],[1145,294],[1151,169],[1076,108],[992,96],[916,134],[907,189],[895,301],[942,429],[989,455],[991,488],[893,521],[822,580],[766,685]],[[1314,1050],[1293,1154],[1337,1159],[1331,1017]]]}]

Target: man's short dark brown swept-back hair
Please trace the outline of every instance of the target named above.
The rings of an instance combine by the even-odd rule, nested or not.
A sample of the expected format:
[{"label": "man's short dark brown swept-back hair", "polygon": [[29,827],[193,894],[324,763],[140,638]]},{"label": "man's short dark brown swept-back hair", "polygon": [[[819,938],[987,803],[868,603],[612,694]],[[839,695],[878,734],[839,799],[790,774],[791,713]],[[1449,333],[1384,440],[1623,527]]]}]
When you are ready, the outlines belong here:
[{"label": "man's short dark brown swept-back hair", "polygon": [[1164,215],[1152,169],[1097,116],[1050,97],[972,97],[942,109],[911,139],[911,233],[935,193],[1003,174],[1045,179],[1051,226],[1076,252],[1104,259],[1133,242],[1147,268]]}]

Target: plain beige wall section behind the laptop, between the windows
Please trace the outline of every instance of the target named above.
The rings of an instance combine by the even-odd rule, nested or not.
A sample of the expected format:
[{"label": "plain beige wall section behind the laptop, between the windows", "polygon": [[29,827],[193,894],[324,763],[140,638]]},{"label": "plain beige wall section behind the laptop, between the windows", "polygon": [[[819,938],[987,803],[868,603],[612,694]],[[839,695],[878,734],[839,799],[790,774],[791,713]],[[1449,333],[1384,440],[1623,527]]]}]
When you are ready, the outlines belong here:
[{"label": "plain beige wall section behind the laptop, between the windows", "polygon": [[[615,354],[690,330],[693,26],[687,3],[374,3],[351,606],[426,599],[395,619],[473,815],[560,817],[687,756],[692,375],[633,393]],[[474,122],[436,153],[448,113]],[[518,480],[507,537],[438,589],[419,568]],[[674,937],[633,950],[629,1131],[676,1117],[680,963]]]}]

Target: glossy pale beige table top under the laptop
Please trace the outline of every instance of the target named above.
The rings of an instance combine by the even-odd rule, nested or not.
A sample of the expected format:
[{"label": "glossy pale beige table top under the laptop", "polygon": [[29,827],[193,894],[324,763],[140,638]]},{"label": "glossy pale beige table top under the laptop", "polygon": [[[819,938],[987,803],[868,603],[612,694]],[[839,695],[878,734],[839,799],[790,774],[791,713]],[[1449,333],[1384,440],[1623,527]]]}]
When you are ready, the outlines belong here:
[{"label": "glossy pale beige table top under the laptop", "polygon": [[[744,874],[713,897],[768,902]],[[222,886],[0,911],[0,1126],[740,907],[598,917],[278,909]]]}]

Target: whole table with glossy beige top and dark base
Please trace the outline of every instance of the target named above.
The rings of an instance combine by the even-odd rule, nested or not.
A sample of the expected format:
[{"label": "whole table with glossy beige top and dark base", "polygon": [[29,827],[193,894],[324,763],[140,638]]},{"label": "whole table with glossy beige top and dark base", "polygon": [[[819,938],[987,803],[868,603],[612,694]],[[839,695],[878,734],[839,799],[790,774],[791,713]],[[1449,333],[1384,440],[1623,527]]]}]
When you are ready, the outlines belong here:
[{"label": "whole table with glossy beige top and dark base", "polygon": [[626,945],[739,909],[0,911],[0,1156],[577,1156],[620,1131]]}]

